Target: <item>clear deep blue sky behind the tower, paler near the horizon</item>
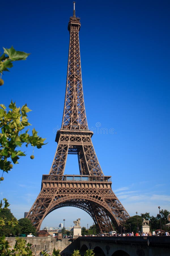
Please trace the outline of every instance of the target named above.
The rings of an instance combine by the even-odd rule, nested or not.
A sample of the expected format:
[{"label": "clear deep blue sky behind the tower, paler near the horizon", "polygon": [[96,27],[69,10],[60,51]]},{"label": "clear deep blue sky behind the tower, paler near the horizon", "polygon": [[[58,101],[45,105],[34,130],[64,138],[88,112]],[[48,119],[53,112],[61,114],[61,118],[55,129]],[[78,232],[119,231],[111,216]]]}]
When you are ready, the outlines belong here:
[{"label": "clear deep blue sky behind the tower, paler near the horizon", "polygon": [[[5,73],[0,102],[27,103],[29,121],[48,144],[32,148],[1,182],[16,218],[23,218],[48,174],[61,127],[72,1],[3,1],[3,47],[31,53]],[[169,1],[76,1],[80,17],[80,53],[88,126],[105,175],[112,176],[112,190],[133,216],[158,206],[170,211],[170,3]],[[103,130],[105,132],[103,132]],[[25,147],[23,150],[26,150]],[[69,155],[65,174],[79,174],[77,156]],[[92,218],[78,208],[55,210],[44,226],[65,226]]]}]

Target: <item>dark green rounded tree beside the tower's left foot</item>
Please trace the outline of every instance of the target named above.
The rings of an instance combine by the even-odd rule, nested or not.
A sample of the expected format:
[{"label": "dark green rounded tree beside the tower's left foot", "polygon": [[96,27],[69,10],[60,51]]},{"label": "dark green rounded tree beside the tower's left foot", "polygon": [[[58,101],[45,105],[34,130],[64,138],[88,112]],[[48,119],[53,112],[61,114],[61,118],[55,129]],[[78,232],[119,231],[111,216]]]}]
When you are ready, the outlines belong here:
[{"label": "dark green rounded tree beside the tower's left foot", "polygon": [[33,226],[31,220],[27,218],[21,218],[18,220],[18,224],[21,234],[28,235],[29,233],[32,233],[34,236],[36,235],[36,228]]}]

